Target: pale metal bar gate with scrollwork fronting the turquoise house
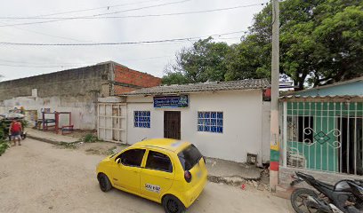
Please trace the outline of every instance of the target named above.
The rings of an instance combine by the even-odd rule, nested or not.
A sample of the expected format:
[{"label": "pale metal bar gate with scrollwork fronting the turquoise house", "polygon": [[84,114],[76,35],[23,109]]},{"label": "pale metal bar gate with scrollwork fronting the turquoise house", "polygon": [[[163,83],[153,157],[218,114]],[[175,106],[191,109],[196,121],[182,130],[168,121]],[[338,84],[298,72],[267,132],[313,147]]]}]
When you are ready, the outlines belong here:
[{"label": "pale metal bar gate with scrollwork fronting the turquoise house", "polygon": [[283,98],[283,165],[363,175],[363,99]]}]

